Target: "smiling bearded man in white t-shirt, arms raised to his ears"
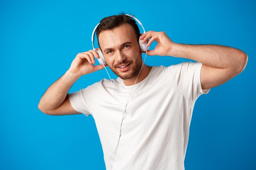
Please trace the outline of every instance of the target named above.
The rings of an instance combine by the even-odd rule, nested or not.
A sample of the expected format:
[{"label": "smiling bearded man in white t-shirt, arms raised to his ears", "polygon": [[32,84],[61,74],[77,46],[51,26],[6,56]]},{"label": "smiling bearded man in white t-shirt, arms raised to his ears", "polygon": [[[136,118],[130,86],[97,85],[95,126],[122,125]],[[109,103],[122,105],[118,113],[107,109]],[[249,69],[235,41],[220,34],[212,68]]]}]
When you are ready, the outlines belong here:
[{"label": "smiling bearded man in white t-shirt, arms raised to his ears", "polygon": [[[136,25],[121,14],[103,18],[97,28],[106,66],[118,75],[112,79],[117,97],[108,79],[67,94],[79,77],[104,68],[93,65],[94,56],[99,56],[90,50],[76,55],[70,69],[47,89],[38,108],[48,115],[92,115],[107,169],[184,170],[196,99],[241,73],[248,57],[243,51],[227,46],[178,44],[164,32],[148,31],[140,36]],[[148,55],[183,57],[197,62],[168,67],[144,64],[139,74],[142,66],[139,38],[143,42],[150,39],[148,46],[157,42],[155,49],[147,51]],[[119,141],[122,113],[129,95]]]}]

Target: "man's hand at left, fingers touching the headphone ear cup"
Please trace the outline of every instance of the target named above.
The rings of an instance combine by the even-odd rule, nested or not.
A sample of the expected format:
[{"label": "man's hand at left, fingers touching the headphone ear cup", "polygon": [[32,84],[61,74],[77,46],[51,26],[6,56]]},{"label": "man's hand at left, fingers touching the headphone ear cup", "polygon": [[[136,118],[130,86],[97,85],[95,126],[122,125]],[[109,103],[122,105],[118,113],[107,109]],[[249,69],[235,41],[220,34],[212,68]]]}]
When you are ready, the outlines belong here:
[{"label": "man's hand at left, fingers touching the headphone ear cup", "polygon": [[[101,64],[93,65],[95,64],[94,56],[99,58],[98,53],[94,50],[78,53],[72,61],[69,71],[82,76],[103,69],[104,66]],[[105,64],[105,66],[108,66],[108,64]]]}]

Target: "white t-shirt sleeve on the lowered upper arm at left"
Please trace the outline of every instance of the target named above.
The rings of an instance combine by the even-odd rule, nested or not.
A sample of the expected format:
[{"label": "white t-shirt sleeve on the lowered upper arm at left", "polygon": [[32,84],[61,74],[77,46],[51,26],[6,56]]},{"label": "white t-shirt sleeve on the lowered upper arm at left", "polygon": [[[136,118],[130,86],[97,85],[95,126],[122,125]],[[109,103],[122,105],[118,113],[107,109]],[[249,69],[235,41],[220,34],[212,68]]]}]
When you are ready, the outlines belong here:
[{"label": "white t-shirt sleeve on the lowered upper arm at left", "polygon": [[68,98],[74,110],[86,116],[92,114],[93,102],[90,95],[90,86],[73,93],[68,93]]}]

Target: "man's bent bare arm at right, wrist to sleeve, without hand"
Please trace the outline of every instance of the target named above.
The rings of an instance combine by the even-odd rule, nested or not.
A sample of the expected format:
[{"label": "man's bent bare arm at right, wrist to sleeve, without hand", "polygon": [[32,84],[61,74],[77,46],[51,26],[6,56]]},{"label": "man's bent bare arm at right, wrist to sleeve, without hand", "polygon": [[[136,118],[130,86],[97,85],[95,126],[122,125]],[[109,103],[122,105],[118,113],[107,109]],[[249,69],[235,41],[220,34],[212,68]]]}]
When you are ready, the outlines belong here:
[{"label": "man's bent bare arm at right, wrist to sleeve, without hand", "polygon": [[200,74],[202,89],[224,84],[241,73],[248,61],[247,54],[239,49],[213,44],[174,43],[169,55],[203,63]]}]

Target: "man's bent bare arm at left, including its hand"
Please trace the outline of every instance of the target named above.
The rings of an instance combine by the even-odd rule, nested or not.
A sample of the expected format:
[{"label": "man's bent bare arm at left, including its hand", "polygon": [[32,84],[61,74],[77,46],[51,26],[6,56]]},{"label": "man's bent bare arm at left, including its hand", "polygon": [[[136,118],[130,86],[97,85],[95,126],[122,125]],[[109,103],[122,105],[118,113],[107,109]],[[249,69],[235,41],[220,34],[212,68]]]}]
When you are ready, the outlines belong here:
[{"label": "man's bent bare arm at left, including its hand", "polygon": [[[47,115],[80,114],[72,107],[67,92],[79,77],[104,68],[103,65],[93,65],[94,56],[99,55],[94,50],[78,53],[68,71],[52,84],[40,99],[38,108]],[[107,64],[105,65],[107,66]]]}]

